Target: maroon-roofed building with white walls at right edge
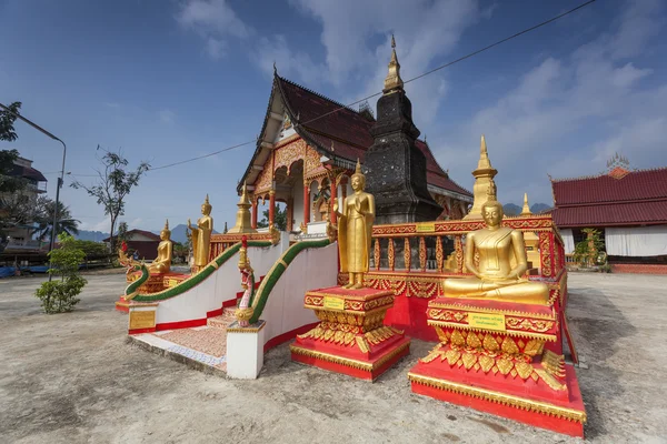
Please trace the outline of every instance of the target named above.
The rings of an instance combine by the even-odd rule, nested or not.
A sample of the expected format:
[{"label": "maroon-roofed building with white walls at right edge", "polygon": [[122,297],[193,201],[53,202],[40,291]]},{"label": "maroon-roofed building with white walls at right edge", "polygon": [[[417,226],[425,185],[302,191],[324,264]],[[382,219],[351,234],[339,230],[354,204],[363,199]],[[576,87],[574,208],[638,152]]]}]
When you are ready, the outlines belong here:
[{"label": "maroon-roofed building with white walls at right edge", "polygon": [[598,229],[615,271],[663,264],[667,272],[667,168],[633,171],[618,155],[608,167],[595,176],[551,179],[566,254],[585,240],[581,230]]}]

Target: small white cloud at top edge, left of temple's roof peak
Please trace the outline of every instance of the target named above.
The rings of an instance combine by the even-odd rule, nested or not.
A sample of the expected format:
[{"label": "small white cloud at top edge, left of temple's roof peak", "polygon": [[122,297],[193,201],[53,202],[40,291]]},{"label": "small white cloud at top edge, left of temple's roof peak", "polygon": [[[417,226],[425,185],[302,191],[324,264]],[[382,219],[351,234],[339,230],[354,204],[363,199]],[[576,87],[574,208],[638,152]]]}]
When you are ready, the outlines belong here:
[{"label": "small white cloud at top edge, left of temple's roof peak", "polygon": [[255,34],[226,0],[185,0],[176,20],[203,39],[206,53],[215,60],[225,56],[228,38],[243,40]]}]

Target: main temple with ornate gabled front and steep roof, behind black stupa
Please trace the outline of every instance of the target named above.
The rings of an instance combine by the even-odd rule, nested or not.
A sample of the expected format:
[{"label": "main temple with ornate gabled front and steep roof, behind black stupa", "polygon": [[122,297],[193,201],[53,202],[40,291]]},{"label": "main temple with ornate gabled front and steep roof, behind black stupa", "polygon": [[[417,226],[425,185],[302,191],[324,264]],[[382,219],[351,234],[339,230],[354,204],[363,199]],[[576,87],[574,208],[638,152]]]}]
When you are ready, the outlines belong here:
[{"label": "main temple with ornate gabled front and steep roof, behind black stupa", "polygon": [[[257,149],[238,186],[240,194],[247,183],[252,193],[252,228],[258,205],[267,202],[269,223],[275,203],[287,204],[290,232],[307,233],[311,225],[336,222],[332,204],[352,192],[349,178],[374,144],[375,122],[368,104],[358,111],[346,108],[275,72]],[[472,194],[440,168],[426,141],[417,140],[416,147],[426,157],[428,191],[444,209],[438,219],[461,219]]]}]

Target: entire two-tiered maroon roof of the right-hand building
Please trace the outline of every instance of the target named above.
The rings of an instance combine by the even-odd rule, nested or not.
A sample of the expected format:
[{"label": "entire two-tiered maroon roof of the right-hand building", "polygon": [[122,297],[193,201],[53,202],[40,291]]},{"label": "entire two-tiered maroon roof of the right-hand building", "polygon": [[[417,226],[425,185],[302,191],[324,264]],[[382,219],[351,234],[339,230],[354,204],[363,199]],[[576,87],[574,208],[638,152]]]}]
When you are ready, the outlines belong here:
[{"label": "entire two-tiered maroon roof of the right-hand building", "polygon": [[552,180],[558,226],[667,223],[667,168]]}]

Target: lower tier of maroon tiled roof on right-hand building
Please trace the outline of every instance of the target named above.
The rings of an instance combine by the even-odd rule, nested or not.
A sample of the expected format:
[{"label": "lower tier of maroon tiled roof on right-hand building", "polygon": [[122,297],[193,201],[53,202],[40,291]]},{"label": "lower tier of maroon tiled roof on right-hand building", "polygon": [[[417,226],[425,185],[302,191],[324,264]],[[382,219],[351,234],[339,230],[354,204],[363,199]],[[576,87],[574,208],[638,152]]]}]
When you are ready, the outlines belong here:
[{"label": "lower tier of maroon tiled roof on right-hand building", "polygon": [[564,206],[556,208],[551,214],[559,228],[661,224],[667,223],[667,199]]}]

